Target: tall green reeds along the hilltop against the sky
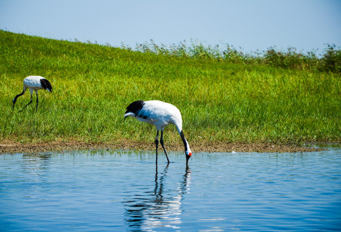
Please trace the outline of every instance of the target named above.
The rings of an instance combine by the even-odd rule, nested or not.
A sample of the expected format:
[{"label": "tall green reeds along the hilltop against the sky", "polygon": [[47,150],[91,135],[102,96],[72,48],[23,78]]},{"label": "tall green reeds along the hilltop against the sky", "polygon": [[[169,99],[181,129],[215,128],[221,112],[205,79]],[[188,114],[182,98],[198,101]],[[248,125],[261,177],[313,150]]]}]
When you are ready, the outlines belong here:
[{"label": "tall green reeds along the hilltop against the sky", "polygon": [[[219,45],[212,47],[200,41],[191,40],[190,44],[181,41],[178,44],[166,46],[165,44],[158,45],[153,40],[150,40],[149,43],[137,44],[135,50],[159,55],[225,61],[235,64],[267,65],[285,69],[341,73],[340,47],[336,47],[335,44],[325,44],[325,46],[321,54],[317,54],[316,50],[297,52],[294,47],[288,47],[287,50],[269,47],[265,51],[257,50],[244,53],[241,49],[237,50],[229,44],[223,44],[221,48]],[[132,50],[132,48],[124,45],[122,48]]]}]

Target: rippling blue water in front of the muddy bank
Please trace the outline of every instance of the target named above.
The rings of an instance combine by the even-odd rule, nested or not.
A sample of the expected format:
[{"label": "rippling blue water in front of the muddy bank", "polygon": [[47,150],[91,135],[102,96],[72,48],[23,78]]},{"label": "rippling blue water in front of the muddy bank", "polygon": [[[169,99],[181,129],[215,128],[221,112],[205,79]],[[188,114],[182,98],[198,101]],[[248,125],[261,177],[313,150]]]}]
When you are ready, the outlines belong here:
[{"label": "rippling blue water in front of the muddy bank", "polygon": [[340,231],[341,150],[0,155],[0,231]]}]

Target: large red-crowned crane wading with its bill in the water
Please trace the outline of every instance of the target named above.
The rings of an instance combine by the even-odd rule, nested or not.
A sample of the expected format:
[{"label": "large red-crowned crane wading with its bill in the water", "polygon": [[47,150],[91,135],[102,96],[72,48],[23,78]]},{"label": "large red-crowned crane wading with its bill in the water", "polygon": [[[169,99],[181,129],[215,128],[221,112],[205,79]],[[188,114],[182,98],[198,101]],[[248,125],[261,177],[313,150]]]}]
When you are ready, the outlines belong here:
[{"label": "large red-crowned crane wading with its bill in the water", "polygon": [[172,104],[162,102],[162,101],[139,100],[139,101],[134,101],[133,103],[131,103],[127,107],[127,111],[125,115],[123,116],[125,117],[125,120],[128,116],[135,117],[138,121],[152,124],[157,128],[158,131],[157,131],[157,136],[155,138],[156,151],[157,151],[157,159],[156,159],[157,164],[158,164],[159,131],[161,130],[160,143],[162,145],[162,148],[165,151],[167,161],[169,163],[169,159],[168,159],[167,152],[164,146],[164,141],[163,141],[163,132],[164,132],[165,126],[167,126],[168,124],[175,125],[184,144],[184,150],[185,150],[185,155],[186,155],[186,165],[188,165],[188,161],[190,157],[192,156],[192,151],[182,132],[182,118],[181,118],[181,113],[178,108],[176,108]]}]

